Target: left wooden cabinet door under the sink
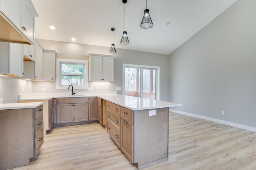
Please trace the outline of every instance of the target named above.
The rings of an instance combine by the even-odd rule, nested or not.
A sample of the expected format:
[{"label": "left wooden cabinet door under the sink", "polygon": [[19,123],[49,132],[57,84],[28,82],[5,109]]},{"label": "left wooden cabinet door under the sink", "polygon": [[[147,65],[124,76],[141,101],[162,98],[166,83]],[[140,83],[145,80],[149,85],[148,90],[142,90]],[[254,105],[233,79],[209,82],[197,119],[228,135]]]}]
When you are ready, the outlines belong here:
[{"label": "left wooden cabinet door under the sink", "polygon": [[57,124],[73,122],[73,104],[57,105]]}]

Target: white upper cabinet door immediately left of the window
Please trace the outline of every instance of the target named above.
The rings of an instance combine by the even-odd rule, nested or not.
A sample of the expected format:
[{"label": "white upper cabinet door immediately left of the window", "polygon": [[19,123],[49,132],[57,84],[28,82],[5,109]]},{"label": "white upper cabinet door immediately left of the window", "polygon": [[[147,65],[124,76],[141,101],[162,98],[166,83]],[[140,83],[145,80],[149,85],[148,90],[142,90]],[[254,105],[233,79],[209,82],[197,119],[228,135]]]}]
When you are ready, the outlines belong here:
[{"label": "white upper cabinet door immediately left of the window", "polygon": [[56,51],[44,50],[43,55],[43,80],[55,81]]}]

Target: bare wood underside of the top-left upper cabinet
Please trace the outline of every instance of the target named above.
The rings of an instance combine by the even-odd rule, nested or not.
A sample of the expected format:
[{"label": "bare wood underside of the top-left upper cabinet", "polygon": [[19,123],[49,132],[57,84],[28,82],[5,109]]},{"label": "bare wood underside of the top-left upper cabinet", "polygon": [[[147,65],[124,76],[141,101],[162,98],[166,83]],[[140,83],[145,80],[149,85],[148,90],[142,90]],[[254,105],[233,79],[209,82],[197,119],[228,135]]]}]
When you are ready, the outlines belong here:
[{"label": "bare wood underside of the top-left upper cabinet", "polygon": [[33,44],[2,12],[0,12],[0,23],[0,42]]}]

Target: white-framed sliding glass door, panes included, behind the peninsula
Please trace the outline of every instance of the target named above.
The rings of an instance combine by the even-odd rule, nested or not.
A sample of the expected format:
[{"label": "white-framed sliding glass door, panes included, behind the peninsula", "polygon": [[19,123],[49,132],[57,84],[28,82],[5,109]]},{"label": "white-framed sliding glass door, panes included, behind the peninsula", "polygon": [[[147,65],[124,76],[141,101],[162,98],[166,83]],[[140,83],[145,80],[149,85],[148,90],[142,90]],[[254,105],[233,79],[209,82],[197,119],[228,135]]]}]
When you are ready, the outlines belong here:
[{"label": "white-framed sliding glass door, panes included, behind the peninsula", "polygon": [[123,64],[123,94],[160,99],[160,67]]}]

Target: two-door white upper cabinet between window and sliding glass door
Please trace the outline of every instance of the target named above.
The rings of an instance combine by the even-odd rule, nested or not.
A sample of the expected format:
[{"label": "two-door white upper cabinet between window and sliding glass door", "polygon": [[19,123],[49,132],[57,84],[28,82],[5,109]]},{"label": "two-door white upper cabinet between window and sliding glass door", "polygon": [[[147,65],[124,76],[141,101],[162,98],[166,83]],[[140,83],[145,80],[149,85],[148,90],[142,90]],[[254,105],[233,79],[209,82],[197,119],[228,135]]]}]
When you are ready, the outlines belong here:
[{"label": "two-door white upper cabinet between window and sliding glass door", "polygon": [[114,57],[89,54],[90,81],[114,81]]}]

